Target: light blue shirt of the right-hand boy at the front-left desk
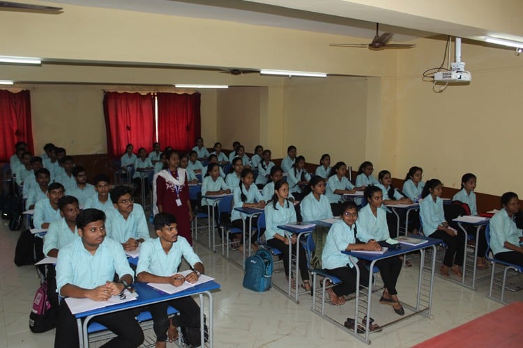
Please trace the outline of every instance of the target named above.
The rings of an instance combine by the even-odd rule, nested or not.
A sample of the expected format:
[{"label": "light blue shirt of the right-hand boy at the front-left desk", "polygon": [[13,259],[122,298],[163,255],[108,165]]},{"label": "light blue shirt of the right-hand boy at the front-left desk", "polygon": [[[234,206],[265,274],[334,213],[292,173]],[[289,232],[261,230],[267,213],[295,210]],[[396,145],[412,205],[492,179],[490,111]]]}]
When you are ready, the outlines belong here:
[{"label": "light blue shirt of the right-hand boy at the front-left desk", "polygon": [[163,250],[160,238],[149,239],[140,246],[136,274],[147,272],[160,277],[172,276],[178,271],[182,256],[191,267],[202,262],[195,251],[192,250],[187,239],[181,237],[181,235],[172,244],[169,253],[165,253]]}]

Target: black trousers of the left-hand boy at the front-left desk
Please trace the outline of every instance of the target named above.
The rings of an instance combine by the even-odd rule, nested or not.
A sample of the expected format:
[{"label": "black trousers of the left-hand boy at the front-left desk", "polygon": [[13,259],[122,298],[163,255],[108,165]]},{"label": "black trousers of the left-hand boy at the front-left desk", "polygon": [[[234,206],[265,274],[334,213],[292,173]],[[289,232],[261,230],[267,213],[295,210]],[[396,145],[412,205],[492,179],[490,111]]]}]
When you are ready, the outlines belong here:
[{"label": "black trousers of the left-hand boy at the front-left desk", "polygon": [[[144,342],[144,333],[135,319],[133,310],[122,310],[120,312],[100,315],[93,319],[107,327],[117,336],[105,343],[103,347],[135,348]],[[79,347],[78,328],[75,315],[71,314],[65,300],[61,301],[56,323],[56,334],[54,336],[54,348]]]}]

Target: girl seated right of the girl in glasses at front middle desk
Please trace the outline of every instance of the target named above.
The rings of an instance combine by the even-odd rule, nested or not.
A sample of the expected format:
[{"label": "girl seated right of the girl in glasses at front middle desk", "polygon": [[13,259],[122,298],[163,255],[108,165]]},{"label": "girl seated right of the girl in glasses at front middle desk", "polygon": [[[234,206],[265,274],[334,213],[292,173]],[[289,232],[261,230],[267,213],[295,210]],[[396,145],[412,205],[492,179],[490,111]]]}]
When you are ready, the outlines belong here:
[{"label": "girl seated right of the girl in glasses at front middle desk", "polygon": [[[370,186],[365,189],[365,199],[367,205],[361,208],[358,214],[356,228],[358,228],[357,237],[361,242],[381,242],[391,238],[388,232],[386,212],[381,209],[383,204],[383,193],[377,186]],[[381,248],[379,248],[381,250]],[[397,315],[404,315],[405,311],[397,299],[396,283],[397,277],[400,276],[402,261],[399,257],[393,256],[379,260],[376,263],[379,268],[379,274],[384,282],[384,292],[379,299],[379,303],[392,306]]]}]

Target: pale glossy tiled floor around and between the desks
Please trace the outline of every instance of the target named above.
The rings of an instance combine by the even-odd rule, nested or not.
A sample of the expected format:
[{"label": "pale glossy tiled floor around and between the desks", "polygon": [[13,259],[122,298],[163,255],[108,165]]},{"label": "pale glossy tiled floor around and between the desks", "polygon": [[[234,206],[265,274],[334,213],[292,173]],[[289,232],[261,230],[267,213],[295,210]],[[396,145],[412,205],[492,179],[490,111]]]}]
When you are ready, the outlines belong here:
[{"label": "pale glossy tiled floor around and between the desks", "polygon": [[[16,267],[13,263],[19,234],[8,230],[5,221],[0,222],[0,347],[52,347],[54,330],[39,334],[29,331],[29,311],[38,278],[34,267]],[[273,289],[264,293],[245,290],[241,286],[241,269],[199,244],[195,249],[206,273],[222,286],[213,295],[215,347],[365,346],[312,313],[310,296],[301,296],[301,303],[296,304]],[[241,259],[238,251],[232,253],[234,258]],[[402,269],[398,284],[400,300],[414,296],[418,269],[416,260],[413,261],[414,267]],[[274,281],[282,284],[282,277],[275,274]],[[408,347],[500,308],[501,304],[485,297],[487,287],[487,280],[473,291],[436,278],[432,317],[417,315],[388,326],[381,333],[370,335],[372,346]],[[509,299],[523,299],[522,292],[508,294]],[[351,316],[353,308],[350,301],[341,307],[327,306],[329,313],[340,318]],[[390,307],[377,304],[372,306],[372,317],[383,323],[397,315]]]}]

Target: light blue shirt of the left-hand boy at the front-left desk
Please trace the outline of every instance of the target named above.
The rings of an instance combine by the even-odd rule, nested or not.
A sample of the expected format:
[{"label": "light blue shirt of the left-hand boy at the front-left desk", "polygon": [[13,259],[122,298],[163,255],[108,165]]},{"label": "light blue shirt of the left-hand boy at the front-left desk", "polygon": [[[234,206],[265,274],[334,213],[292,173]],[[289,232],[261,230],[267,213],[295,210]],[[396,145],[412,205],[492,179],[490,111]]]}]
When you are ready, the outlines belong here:
[{"label": "light blue shirt of the left-hand boy at the front-left desk", "polygon": [[115,272],[120,278],[126,274],[134,276],[121,244],[105,237],[94,255],[91,255],[84,247],[82,238],[77,238],[58,253],[56,289],[60,293],[66,284],[94,289],[108,281],[112,282]]}]

